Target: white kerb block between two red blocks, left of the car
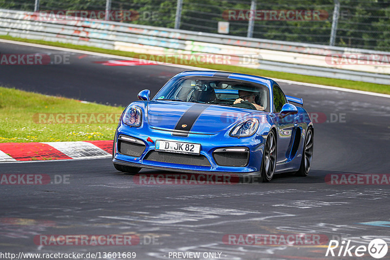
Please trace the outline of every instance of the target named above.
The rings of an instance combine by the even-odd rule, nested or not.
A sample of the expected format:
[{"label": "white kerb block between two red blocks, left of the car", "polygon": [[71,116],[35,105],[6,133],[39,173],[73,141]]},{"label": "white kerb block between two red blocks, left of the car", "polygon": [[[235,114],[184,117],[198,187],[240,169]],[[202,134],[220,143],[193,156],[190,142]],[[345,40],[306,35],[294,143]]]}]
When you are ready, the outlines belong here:
[{"label": "white kerb block between two red blocks, left of the car", "polygon": [[47,144],[60,152],[66,154],[67,156],[75,158],[85,158],[85,157],[96,157],[96,156],[107,156],[110,155],[103,149],[98,148],[96,145],[87,142],[42,142],[42,144]]}]

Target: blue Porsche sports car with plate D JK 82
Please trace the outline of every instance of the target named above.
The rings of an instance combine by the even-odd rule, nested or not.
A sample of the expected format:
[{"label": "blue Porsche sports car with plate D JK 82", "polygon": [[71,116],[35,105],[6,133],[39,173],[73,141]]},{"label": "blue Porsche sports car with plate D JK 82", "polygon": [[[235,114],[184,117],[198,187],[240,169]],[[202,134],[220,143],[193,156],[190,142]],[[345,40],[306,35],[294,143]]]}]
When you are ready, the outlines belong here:
[{"label": "blue Porsche sports car with plate D JK 82", "polygon": [[219,71],[176,74],[150,99],[123,111],[115,133],[117,170],[141,168],[258,176],[296,172],[312,163],[313,125],[301,98],[269,78]]}]

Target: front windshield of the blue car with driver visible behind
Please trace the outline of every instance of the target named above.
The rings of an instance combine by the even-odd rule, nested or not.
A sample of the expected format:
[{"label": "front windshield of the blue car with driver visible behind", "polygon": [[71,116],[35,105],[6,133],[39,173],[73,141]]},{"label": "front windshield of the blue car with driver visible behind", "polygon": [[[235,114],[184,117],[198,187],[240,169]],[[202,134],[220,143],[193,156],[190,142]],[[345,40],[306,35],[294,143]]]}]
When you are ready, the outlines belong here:
[{"label": "front windshield of the blue car with driver visible behind", "polygon": [[171,79],[153,100],[174,100],[270,111],[266,86],[224,77],[182,76]]}]

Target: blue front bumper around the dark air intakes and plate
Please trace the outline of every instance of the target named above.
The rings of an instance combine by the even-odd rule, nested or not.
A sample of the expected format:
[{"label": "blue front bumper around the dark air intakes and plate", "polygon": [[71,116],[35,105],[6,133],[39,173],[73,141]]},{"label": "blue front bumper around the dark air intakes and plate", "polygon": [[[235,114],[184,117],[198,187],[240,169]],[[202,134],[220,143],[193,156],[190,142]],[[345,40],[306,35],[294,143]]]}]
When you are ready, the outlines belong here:
[{"label": "blue front bumper around the dark air intakes and plate", "polygon": [[[119,135],[141,140],[145,144],[145,149],[142,154],[135,157],[119,153],[117,146]],[[200,154],[206,157],[210,164],[209,166],[199,166],[146,160],[145,158],[148,157],[147,155],[152,151],[155,151],[156,140],[201,144]],[[240,176],[257,176],[259,175],[261,169],[264,141],[265,139],[258,134],[241,138],[231,137],[229,136],[229,133],[226,132],[216,132],[211,134],[189,133],[188,136],[174,136],[172,131],[152,128],[145,126],[145,124],[139,128],[133,128],[124,124],[120,124],[115,137],[115,152],[113,162],[115,164],[131,167],[143,167],[178,172],[209,174],[234,173]],[[249,160],[246,166],[220,166],[215,162],[213,152],[216,149],[236,147],[246,147],[249,149]]]}]

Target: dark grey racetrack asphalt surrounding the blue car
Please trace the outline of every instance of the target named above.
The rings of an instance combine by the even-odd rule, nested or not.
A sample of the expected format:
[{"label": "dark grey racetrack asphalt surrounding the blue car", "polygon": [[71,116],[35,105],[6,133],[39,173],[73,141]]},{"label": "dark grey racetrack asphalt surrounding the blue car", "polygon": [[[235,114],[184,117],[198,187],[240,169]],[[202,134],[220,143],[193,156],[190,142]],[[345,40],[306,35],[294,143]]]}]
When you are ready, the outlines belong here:
[{"label": "dark grey racetrack asphalt surrounding the blue car", "polygon": [[[0,53],[70,55],[68,65],[0,65],[2,86],[111,105],[126,106],[143,89],[154,96],[172,75],[184,70],[104,66],[98,62],[109,59],[101,56],[5,43],[0,43]],[[390,245],[390,184],[325,183],[328,174],[389,176],[390,100],[280,85],[286,94],[302,97],[304,107],[318,116],[308,177],[275,175],[267,184],[139,185],[132,175],[117,172],[110,159],[0,164],[1,174],[47,174],[53,182],[0,185],[0,251],[136,252],[136,259],[142,260],[169,259],[169,252],[184,251],[220,252],[220,259],[232,260],[336,259],[325,257],[328,243],[232,245],[223,241],[227,234],[308,233],[366,246],[373,238],[382,238]],[[34,242],[35,236],[50,234],[130,234],[141,241],[132,246]],[[149,243],[152,237],[155,242]],[[366,253],[359,259],[372,257]]]}]

